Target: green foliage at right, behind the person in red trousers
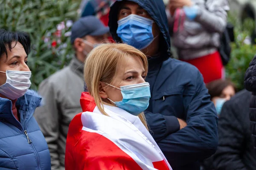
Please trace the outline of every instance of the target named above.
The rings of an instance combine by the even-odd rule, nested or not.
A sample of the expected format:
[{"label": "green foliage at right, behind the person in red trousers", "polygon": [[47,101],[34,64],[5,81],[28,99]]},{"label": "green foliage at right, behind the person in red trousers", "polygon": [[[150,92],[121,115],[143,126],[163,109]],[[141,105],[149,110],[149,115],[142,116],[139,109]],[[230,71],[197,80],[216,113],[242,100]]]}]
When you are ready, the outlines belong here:
[{"label": "green foliage at right, behind the person in red trousers", "polygon": [[244,74],[250,61],[256,54],[256,45],[250,44],[250,36],[254,31],[254,21],[252,19],[244,20],[239,25],[231,17],[230,21],[235,26],[235,43],[232,43],[231,59],[226,66],[226,77],[235,83],[238,90],[244,88]]}]

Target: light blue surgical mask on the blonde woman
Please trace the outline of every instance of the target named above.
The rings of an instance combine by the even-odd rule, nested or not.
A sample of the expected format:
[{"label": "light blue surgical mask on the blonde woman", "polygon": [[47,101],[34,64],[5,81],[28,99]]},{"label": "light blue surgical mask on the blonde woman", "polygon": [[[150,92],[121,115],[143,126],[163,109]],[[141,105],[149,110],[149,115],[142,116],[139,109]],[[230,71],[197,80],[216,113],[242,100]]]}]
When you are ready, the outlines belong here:
[{"label": "light blue surgical mask on the blonde woman", "polygon": [[[110,86],[117,88],[113,85]],[[135,85],[125,85],[117,89],[121,90],[123,96],[122,101],[113,102],[111,99],[109,100],[118,108],[121,108],[134,116],[137,116],[148,108],[149,98],[151,97],[148,82]]]}]

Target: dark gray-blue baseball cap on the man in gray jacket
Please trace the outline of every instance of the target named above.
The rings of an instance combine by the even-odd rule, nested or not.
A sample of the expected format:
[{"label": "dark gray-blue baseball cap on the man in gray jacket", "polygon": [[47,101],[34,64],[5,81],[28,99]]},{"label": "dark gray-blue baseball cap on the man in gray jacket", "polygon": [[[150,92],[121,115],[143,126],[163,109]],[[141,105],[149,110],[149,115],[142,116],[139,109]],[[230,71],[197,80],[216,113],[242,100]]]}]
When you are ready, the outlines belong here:
[{"label": "dark gray-blue baseball cap on the man in gray jacket", "polygon": [[71,43],[73,44],[76,38],[82,38],[86,35],[99,36],[109,32],[109,27],[95,16],[81,17],[71,28]]}]

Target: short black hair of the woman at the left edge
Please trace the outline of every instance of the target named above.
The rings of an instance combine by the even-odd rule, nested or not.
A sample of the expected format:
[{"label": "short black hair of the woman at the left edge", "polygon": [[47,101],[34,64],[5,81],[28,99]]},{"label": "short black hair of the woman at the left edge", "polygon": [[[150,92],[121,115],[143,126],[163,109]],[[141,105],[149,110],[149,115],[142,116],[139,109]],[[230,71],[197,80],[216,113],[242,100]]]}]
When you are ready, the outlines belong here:
[{"label": "short black hair of the woman at the left edge", "polygon": [[[12,45],[12,43],[15,42],[15,45]],[[17,45],[17,42],[20,42],[20,44],[23,46],[25,52],[27,55],[29,55],[30,52],[30,37],[29,34],[25,32],[12,32],[7,31],[5,29],[0,29],[0,57],[2,57],[3,54],[6,54],[7,56],[7,50],[12,51],[12,48],[14,48]]]}]

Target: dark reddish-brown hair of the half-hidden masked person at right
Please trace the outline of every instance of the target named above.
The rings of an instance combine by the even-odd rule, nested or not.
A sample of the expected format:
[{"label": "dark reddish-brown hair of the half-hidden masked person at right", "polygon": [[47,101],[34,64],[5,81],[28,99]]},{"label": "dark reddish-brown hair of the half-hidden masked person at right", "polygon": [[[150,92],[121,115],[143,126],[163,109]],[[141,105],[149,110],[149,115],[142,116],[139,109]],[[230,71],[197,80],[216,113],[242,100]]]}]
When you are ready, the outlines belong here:
[{"label": "dark reddish-brown hair of the half-hidden masked person at right", "polygon": [[229,80],[223,80],[223,79],[218,79],[218,80],[214,80],[212,82],[207,83],[206,88],[208,89],[212,99],[213,97],[221,96],[221,93],[224,90],[224,88],[226,88],[229,85],[231,85],[236,91],[236,87],[232,82],[230,82]]}]

